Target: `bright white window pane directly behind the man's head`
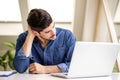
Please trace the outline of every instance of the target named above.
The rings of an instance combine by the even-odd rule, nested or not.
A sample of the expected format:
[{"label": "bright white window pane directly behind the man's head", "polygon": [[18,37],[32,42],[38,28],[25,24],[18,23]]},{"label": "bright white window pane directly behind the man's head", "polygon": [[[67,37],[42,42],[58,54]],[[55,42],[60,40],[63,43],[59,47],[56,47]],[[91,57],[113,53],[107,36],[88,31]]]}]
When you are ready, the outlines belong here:
[{"label": "bright white window pane directly behind the man's head", "polygon": [[72,22],[74,0],[30,0],[30,7],[47,10],[56,22]]}]

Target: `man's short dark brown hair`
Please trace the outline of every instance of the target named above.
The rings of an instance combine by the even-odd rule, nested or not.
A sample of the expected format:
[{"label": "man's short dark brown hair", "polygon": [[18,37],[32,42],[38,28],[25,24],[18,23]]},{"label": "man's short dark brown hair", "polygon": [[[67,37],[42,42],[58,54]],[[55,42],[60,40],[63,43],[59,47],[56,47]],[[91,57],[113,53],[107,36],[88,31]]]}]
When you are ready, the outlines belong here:
[{"label": "man's short dark brown hair", "polygon": [[52,21],[50,14],[43,9],[32,9],[27,18],[28,25],[37,32],[47,28]]}]

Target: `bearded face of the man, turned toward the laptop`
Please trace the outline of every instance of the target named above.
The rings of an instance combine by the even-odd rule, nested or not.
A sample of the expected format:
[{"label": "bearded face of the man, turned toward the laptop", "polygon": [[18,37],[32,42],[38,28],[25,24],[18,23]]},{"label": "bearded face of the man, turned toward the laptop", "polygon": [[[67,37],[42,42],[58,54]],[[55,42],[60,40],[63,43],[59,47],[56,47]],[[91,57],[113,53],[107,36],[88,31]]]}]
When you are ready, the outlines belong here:
[{"label": "bearded face of the man, turned toward the laptop", "polygon": [[50,26],[41,31],[40,37],[45,40],[55,40],[56,39],[55,23],[52,22]]}]

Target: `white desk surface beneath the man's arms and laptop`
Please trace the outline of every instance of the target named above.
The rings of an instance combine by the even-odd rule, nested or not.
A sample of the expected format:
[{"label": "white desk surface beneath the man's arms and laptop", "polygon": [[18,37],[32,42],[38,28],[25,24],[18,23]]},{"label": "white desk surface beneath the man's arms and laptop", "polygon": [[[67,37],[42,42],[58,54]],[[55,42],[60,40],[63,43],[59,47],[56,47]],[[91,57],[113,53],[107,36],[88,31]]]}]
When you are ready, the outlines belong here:
[{"label": "white desk surface beneath the man's arms and laptop", "polygon": [[9,77],[0,77],[0,80],[120,80],[120,73],[113,73],[109,77],[95,77],[95,78],[76,78],[64,79],[50,76],[50,74],[14,74]]}]

